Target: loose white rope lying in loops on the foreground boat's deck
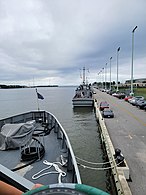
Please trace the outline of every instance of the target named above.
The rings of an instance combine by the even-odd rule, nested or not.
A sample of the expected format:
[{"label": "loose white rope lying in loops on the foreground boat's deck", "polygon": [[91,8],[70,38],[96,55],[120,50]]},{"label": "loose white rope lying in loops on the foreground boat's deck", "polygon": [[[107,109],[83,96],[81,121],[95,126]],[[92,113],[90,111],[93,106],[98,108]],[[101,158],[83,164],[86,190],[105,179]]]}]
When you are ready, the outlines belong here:
[{"label": "loose white rope lying in loops on the foreground boat's deck", "polygon": [[[61,165],[61,166],[64,166],[67,161],[64,161],[63,159],[63,156],[61,155],[61,161],[62,162],[48,162],[47,160],[44,160],[43,163],[45,165],[47,165],[48,167],[40,170],[39,172],[35,173],[33,176],[32,176],[32,179],[38,179],[40,177],[43,177],[45,175],[49,175],[49,174],[58,174],[58,183],[61,183],[61,177],[65,177],[66,176],[66,172],[62,171],[62,169],[59,168],[58,164]],[[44,171],[50,169],[51,167],[54,167],[54,171],[48,171],[48,172],[45,172],[43,173]]]}]

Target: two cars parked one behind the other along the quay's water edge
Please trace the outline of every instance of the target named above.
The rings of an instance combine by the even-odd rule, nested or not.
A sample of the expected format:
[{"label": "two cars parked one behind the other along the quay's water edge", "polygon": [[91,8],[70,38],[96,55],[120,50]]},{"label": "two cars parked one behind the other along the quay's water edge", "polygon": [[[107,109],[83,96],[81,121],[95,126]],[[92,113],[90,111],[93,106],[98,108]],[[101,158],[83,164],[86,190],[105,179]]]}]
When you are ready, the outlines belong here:
[{"label": "two cars parked one behind the other along the quay's water edge", "polygon": [[110,109],[109,104],[106,101],[100,102],[99,110],[104,118],[114,118],[113,110]]}]

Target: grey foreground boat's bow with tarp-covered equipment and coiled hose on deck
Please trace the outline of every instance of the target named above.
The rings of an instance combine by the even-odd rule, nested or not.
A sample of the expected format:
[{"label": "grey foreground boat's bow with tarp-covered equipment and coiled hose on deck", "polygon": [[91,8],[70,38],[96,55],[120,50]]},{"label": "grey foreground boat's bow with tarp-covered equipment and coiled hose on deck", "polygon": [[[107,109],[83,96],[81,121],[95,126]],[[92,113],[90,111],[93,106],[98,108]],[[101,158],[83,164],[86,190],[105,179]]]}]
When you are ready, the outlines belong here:
[{"label": "grey foreground boat's bow with tarp-covered equipment and coiled hose on deck", "polygon": [[[29,195],[107,195],[81,183],[69,138],[50,112],[31,111],[1,119],[0,129],[1,181]],[[43,186],[31,190],[34,183]]]}]

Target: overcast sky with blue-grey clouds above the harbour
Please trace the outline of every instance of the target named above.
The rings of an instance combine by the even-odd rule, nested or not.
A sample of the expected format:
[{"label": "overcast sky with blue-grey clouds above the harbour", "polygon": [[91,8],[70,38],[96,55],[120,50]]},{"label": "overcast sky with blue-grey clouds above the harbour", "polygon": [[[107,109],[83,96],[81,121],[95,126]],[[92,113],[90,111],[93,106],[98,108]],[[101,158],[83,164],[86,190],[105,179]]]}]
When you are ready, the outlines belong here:
[{"label": "overcast sky with blue-grey clouds above the harbour", "polygon": [[[146,0],[0,0],[0,84],[146,78]],[[120,51],[117,49],[120,47]],[[110,58],[112,60],[110,61]],[[104,68],[104,69],[103,69]],[[101,72],[102,73],[99,73]]]}]

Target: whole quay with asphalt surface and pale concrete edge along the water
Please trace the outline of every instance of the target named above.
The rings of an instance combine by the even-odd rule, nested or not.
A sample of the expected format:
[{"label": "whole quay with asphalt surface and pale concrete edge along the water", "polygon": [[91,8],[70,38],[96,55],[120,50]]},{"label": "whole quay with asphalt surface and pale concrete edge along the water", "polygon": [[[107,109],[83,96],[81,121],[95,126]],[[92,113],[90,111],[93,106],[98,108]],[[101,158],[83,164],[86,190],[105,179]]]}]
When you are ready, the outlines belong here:
[{"label": "whole quay with asphalt surface and pale concrete edge along the water", "polygon": [[[146,112],[94,88],[95,112],[99,117],[107,154],[113,160],[114,149],[119,148],[125,158],[125,170],[113,170],[118,194],[146,194]],[[102,118],[98,109],[101,101],[107,101],[114,118]]]}]

